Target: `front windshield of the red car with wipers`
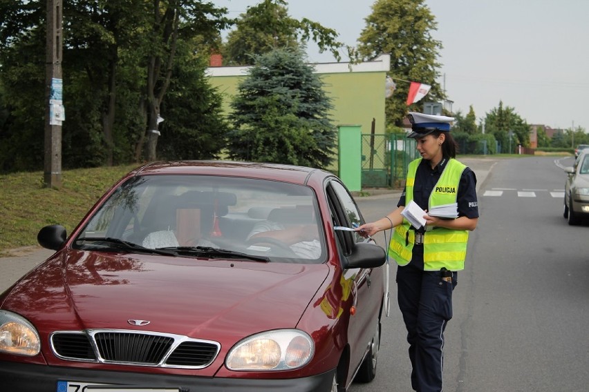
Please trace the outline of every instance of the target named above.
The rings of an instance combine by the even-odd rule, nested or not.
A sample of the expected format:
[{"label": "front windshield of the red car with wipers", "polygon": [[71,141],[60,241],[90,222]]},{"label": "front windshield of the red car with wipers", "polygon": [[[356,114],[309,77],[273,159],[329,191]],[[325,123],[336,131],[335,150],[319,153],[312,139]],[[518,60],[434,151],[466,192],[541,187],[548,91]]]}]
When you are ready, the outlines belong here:
[{"label": "front windshield of the red car with wipers", "polygon": [[74,248],[255,262],[320,263],[326,246],[307,186],[207,175],[133,177]]}]

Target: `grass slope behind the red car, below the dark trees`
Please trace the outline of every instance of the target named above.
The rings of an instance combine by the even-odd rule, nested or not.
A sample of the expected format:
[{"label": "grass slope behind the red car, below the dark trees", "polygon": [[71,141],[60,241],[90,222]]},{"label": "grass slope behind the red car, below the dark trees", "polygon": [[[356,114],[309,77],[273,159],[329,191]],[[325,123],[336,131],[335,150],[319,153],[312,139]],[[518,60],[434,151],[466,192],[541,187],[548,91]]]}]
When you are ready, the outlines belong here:
[{"label": "grass slope behind the red car, below the dark trees", "polygon": [[0,255],[37,245],[37,233],[61,224],[68,233],[122,175],[137,164],[62,171],[62,188],[46,188],[43,172],[0,175]]}]

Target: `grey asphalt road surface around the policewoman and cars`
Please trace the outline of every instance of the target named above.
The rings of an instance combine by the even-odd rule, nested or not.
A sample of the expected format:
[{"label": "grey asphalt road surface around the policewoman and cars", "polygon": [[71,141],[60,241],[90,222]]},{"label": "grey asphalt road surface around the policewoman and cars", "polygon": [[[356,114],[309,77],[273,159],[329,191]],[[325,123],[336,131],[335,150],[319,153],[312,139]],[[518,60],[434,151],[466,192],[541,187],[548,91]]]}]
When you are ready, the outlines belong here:
[{"label": "grey asphalt road surface around the policewoman and cars", "polygon": [[[445,391],[585,391],[589,385],[589,224],[562,215],[572,157],[463,159],[478,178],[480,220],[469,237],[445,337]],[[359,197],[367,220],[398,193]],[[384,235],[376,237],[384,245]],[[50,255],[0,259],[0,291]],[[396,296],[395,268],[391,291]],[[384,320],[377,376],[352,392],[411,391],[411,366],[396,301]]]}]

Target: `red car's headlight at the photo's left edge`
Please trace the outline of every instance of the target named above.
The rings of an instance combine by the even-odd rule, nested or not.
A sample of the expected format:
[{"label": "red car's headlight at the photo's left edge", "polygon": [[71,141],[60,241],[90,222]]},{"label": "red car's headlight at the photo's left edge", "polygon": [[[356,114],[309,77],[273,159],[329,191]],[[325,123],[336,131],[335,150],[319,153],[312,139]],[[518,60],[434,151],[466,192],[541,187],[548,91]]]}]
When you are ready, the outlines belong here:
[{"label": "red car's headlight at the photo's left edge", "polygon": [[41,351],[35,327],[24,317],[0,311],[0,353],[34,356]]}]

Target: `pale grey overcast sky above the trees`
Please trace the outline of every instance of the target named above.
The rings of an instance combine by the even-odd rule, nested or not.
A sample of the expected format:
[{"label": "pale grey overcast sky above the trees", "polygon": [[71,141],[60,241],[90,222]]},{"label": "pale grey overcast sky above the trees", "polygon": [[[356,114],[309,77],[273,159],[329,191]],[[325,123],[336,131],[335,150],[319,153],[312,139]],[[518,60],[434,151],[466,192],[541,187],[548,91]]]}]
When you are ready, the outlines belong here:
[{"label": "pale grey overcast sky above the trees", "polygon": [[[212,0],[238,17],[256,0]],[[306,17],[355,46],[371,0],[290,0]],[[589,130],[588,0],[427,0],[442,42],[440,79],[454,111],[478,119],[499,101],[528,124]],[[309,45],[312,62],[335,61]],[[345,59],[342,59],[345,60]]]}]

